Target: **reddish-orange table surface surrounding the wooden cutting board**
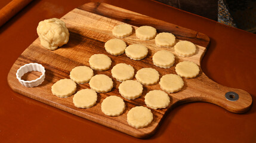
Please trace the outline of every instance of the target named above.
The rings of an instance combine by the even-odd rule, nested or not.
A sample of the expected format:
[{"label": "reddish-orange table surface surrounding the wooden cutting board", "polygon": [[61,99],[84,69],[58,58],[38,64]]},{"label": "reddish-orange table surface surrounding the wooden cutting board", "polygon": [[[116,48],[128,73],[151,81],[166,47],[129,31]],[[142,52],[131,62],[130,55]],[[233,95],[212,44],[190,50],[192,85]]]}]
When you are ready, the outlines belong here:
[{"label": "reddish-orange table surface surrounding the wooden cutting board", "polygon": [[[0,2],[0,8],[9,1]],[[137,139],[12,91],[7,74],[38,35],[39,21],[60,18],[90,1],[35,0],[0,27],[0,142],[256,142],[256,106],[234,114],[205,102],[180,105],[149,139]],[[178,26],[211,39],[202,70],[224,86],[256,99],[256,35],[149,0],[105,2]],[[203,12],[202,12],[203,13]]]}]

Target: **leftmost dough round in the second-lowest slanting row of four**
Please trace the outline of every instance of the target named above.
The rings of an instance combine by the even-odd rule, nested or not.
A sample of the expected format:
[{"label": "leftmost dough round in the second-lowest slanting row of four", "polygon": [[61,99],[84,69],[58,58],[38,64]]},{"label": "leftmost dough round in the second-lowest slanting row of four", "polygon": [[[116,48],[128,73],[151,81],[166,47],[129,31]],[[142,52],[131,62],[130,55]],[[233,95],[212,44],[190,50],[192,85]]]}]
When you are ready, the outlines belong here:
[{"label": "leftmost dough round in the second-lowest slanting row of four", "polygon": [[93,70],[87,66],[78,66],[70,71],[69,76],[70,79],[72,79],[74,82],[78,84],[87,83],[93,76]]}]

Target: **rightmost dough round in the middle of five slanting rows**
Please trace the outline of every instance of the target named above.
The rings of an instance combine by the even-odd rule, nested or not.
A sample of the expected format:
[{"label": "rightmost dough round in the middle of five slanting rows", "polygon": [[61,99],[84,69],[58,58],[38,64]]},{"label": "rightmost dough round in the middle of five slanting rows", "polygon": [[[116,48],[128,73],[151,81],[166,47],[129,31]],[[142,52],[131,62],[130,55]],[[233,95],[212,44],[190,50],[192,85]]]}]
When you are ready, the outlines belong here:
[{"label": "rightmost dough round in the middle of five slanting rows", "polygon": [[165,74],[159,82],[160,87],[169,93],[180,91],[183,88],[183,79],[177,74]]}]

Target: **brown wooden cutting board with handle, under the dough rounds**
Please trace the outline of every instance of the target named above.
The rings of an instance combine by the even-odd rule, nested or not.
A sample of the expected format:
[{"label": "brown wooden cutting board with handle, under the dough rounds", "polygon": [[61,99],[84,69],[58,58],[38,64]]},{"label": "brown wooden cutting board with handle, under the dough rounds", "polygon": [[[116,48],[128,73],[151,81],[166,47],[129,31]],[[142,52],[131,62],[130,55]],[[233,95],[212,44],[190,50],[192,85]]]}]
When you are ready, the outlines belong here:
[{"label": "brown wooden cutting board with handle, under the dough rounds", "polygon": [[[152,135],[159,127],[159,124],[162,119],[164,119],[167,112],[176,105],[180,105],[185,102],[211,102],[234,113],[244,113],[252,104],[252,98],[248,92],[218,85],[209,79],[201,70],[198,77],[194,79],[183,78],[183,89],[179,92],[169,94],[171,97],[171,104],[167,108],[159,110],[153,110],[150,108],[154,119],[149,126],[143,129],[135,129],[127,123],[128,111],[137,105],[143,105],[146,107],[146,104],[144,104],[144,96],[147,92],[153,89],[161,90],[159,84],[144,86],[143,94],[140,98],[135,100],[126,100],[123,98],[126,105],[124,113],[118,117],[110,117],[101,112],[101,102],[109,95],[118,95],[121,97],[118,92],[120,82],[113,79],[110,70],[94,70],[94,74],[106,74],[107,76],[112,77],[114,81],[114,88],[106,94],[98,94],[98,100],[94,107],[88,109],[76,108],[72,102],[73,95],[68,98],[58,98],[51,93],[51,86],[60,79],[69,78],[69,72],[74,67],[82,65],[89,66],[88,60],[91,55],[99,53],[106,54],[112,59],[112,67],[118,63],[127,63],[134,67],[135,72],[143,67],[152,67],[153,69],[158,70],[162,77],[164,74],[175,74],[174,67],[180,61],[193,61],[200,66],[201,59],[206,51],[206,46],[209,44],[209,38],[203,33],[185,29],[152,17],[147,17],[146,15],[134,13],[109,4],[93,2],[75,8],[64,15],[61,20],[66,23],[66,26],[69,29],[69,42],[55,51],[50,51],[43,48],[40,45],[39,39],[36,39],[20,55],[20,57],[18,57],[8,74],[8,83],[14,91],[137,138],[147,138]],[[171,32],[177,39],[195,43],[197,48],[196,55],[193,55],[192,57],[178,57],[175,55],[175,64],[173,67],[169,69],[156,67],[153,65],[152,55],[161,49],[166,49],[174,53],[174,49],[156,46],[155,39],[142,41],[136,38],[135,33],[132,33],[131,36],[128,36],[123,40],[128,45],[131,45],[132,43],[141,43],[147,46],[147,48],[149,48],[149,54],[146,58],[140,61],[134,61],[129,59],[125,54],[118,56],[110,55],[105,51],[104,43],[109,39],[115,38],[112,36],[112,29],[114,26],[122,23],[131,24],[134,29],[137,29],[139,26],[149,25],[155,27],[158,30],[158,33]],[[39,63],[45,67],[46,76],[42,85],[34,88],[26,88],[18,82],[16,79],[16,71],[20,66],[27,63]],[[112,67],[110,69],[112,69]],[[77,87],[77,91],[90,88],[88,83],[77,85]],[[225,94],[229,91],[236,92],[239,95],[239,99],[237,101],[227,100]]]}]

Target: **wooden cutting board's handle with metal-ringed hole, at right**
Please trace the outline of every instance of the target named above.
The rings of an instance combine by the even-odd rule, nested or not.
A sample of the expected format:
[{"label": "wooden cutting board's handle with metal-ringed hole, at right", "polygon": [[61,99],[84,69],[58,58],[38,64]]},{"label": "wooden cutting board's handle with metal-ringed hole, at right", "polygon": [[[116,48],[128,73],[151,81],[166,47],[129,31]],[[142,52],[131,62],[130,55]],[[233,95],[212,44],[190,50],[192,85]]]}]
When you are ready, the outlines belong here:
[{"label": "wooden cutting board's handle with metal-ringed hole, at right", "polygon": [[180,100],[181,102],[209,102],[233,113],[245,113],[252,105],[251,95],[242,89],[220,85],[209,79],[204,73],[199,77],[199,80],[203,81],[201,92],[197,92],[200,94],[183,98]]}]

